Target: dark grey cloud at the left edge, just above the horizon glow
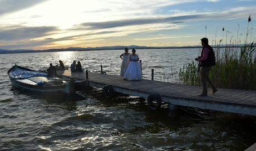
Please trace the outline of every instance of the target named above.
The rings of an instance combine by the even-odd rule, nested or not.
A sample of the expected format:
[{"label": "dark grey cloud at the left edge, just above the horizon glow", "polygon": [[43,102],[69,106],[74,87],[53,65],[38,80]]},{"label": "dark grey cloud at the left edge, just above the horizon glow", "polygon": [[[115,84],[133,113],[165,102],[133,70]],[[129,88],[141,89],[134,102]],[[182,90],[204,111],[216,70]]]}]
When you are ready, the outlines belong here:
[{"label": "dark grey cloud at the left edge, just above the horizon glow", "polygon": [[5,41],[43,37],[58,30],[56,27],[12,27],[0,30],[0,39]]}]

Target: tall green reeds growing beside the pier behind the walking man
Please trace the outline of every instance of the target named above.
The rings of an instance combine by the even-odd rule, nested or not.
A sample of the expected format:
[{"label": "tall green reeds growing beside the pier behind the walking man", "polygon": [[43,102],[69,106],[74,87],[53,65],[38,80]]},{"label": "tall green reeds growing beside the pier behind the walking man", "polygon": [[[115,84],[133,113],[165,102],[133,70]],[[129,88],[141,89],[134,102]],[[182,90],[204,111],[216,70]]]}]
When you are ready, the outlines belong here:
[{"label": "tall green reeds growing beside the pier behind the walking man", "polygon": [[[250,16],[248,18],[248,25],[249,22]],[[247,36],[249,34],[248,31],[247,27]],[[231,40],[229,46],[226,44],[225,48],[221,49],[220,46],[214,48],[216,65],[210,71],[210,79],[219,88],[256,90],[256,44],[247,44],[246,37],[244,46],[241,46],[239,49],[230,46],[232,46]],[[197,63],[192,61],[184,65],[180,69],[179,79],[183,84],[199,86],[200,77]]]}]

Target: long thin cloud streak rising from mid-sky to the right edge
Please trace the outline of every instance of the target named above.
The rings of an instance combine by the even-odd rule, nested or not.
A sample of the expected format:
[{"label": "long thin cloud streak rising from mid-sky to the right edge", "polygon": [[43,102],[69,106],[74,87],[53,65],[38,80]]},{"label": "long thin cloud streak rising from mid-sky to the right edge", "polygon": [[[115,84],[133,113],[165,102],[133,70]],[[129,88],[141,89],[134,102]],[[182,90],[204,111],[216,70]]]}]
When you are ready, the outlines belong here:
[{"label": "long thin cloud streak rising from mid-sky to the right edge", "polygon": [[[120,19],[107,22],[87,22],[81,23],[77,26],[77,30],[95,30],[95,29],[107,29],[117,27],[129,27],[135,25],[146,24],[181,24],[188,22],[196,22],[199,20],[226,20],[226,19],[240,19],[247,16],[250,10],[254,10],[256,7],[236,7],[227,9],[225,11],[215,12],[185,12],[173,14],[171,17],[163,17],[163,15],[155,16],[154,18],[135,18],[135,19]],[[252,13],[250,13],[252,14]],[[252,15],[254,15],[253,13]]]}]

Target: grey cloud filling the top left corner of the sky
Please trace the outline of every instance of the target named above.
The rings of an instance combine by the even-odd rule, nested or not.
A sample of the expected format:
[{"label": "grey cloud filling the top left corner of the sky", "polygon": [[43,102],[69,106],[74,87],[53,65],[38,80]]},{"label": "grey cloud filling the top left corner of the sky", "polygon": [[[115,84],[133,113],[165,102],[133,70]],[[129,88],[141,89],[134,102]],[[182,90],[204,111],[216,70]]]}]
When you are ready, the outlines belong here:
[{"label": "grey cloud filling the top left corner of the sky", "polygon": [[26,9],[45,1],[47,0],[1,0],[0,15],[20,11],[21,9]]}]

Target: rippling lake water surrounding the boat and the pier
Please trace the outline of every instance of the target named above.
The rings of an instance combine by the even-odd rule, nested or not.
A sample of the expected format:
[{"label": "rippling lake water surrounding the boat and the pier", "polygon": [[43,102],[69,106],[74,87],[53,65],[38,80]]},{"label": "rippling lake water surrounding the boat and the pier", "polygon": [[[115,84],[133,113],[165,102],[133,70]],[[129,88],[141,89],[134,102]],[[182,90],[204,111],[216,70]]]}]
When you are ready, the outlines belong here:
[{"label": "rippling lake water surrounding the boat and the pier", "polygon": [[[119,95],[106,99],[92,88],[83,100],[41,98],[12,89],[7,70],[15,63],[45,70],[62,60],[70,66],[119,75],[124,50],[0,54],[0,150],[245,150],[256,142],[256,118],[181,107],[170,118],[146,100]],[[137,50],[144,79],[179,82],[179,69],[199,49]]]}]

